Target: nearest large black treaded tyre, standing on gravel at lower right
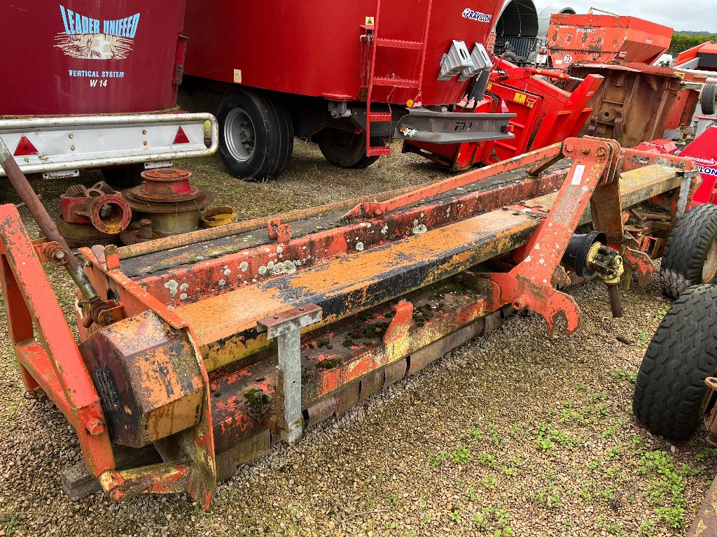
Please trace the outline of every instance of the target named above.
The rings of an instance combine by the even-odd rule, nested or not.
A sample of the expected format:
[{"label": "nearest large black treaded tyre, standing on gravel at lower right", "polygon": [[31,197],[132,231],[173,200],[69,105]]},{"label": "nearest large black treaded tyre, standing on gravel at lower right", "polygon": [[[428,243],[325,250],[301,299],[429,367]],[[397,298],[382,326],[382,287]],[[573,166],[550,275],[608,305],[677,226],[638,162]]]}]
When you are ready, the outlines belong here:
[{"label": "nearest large black treaded tyre, standing on gravel at lower right", "polygon": [[689,287],[657,327],[637,373],[632,410],[647,429],[675,440],[700,424],[717,367],[717,286]]}]

